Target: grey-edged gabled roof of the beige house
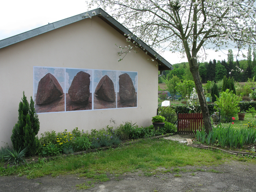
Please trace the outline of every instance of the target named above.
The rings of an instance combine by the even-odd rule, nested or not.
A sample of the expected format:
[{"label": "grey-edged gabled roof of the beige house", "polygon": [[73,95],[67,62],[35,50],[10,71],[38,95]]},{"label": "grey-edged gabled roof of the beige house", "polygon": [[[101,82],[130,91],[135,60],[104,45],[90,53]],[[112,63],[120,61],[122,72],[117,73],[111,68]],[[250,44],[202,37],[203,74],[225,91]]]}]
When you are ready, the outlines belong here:
[{"label": "grey-edged gabled roof of the beige house", "polygon": [[[94,14],[92,12],[95,12]],[[86,16],[85,16],[86,15]],[[38,36],[40,34],[46,33],[48,31],[63,27],[65,25],[69,25],[71,23],[81,21],[83,19],[87,19],[90,17],[93,17],[97,15],[97,17],[101,18],[103,21],[105,21],[107,24],[109,24],[111,27],[113,27],[115,30],[117,30],[120,34],[131,34],[131,31],[129,31],[126,27],[124,27],[121,23],[116,21],[114,18],[108,15],[102,8],[97,8],[94,10],[91,10],[87,13],[82,13],[73,17],[69,17],[54,23],[49,23],[48,25],[44,25],[42,27],[38,27],[35,29],[32,29],[30,31],[21,33],[19,35],[15,35],[13,37],[9,37],[6,39],[3,39],[0,41],[0,49],[15,43],[18,43],[20,41],[24,41],[26,39],[29,39],[31,37]],[[171,67],[172,65],[166,61],[164,58],[159,56],[156,51],[154,51],[152,48],[150,48],[146,43],[144,43],[141,40],[137,40],[137,37],[133,35],[131,37],[131,42],[137,42],[140,44],[144,49],[142,51],[147,52],[147,54],[152,57],[154,60],[156,60],[159,65],[158,65],[158,70],[172,70],[173,68]]]}]

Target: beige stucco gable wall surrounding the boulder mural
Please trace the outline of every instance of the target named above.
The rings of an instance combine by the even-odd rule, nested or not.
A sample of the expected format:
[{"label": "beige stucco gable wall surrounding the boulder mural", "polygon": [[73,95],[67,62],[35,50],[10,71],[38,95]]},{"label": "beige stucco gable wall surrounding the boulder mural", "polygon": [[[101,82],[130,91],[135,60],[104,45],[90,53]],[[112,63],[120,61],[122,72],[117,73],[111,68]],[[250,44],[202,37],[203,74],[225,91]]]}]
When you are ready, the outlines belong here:
[{"label": "beige stucco gable wall surrounding the boulder mural", "polygon": [[[39,114],[40,131],[56,132],[119,126],[132,121],[149,126],[157,109],[156,62],[143,51],[118,62],[117,45],[126,39],[101,19],[85,19],[0,49],[0,146],[12,145],[10,136],[18,121],[22,92],[33,95],[33,66],[124,70],[138,72],[137,108]],[[148,60],[149,59],[149,60]]]}]

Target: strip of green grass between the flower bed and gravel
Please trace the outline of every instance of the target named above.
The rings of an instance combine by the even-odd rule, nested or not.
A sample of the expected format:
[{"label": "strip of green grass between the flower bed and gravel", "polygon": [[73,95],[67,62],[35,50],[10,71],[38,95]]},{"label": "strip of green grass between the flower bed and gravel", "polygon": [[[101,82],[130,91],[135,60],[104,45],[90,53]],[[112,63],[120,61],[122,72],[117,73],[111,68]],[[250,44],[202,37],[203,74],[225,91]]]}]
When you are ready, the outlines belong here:
[{"label": "strip of green grass between the flower bed and gravel", "polygon": [[[106,181],[107,173],[123,174],[141,170],[144,175],[156,173],[158,167],[170,169],[186,165],[216,165],[228,161],[231,155],[219,151],[202,150],[164,139],[142,140],[129,146],[83,155],[59,156],[19,167],[0,167],[0,175],[18,174],[36,178],[51,174],[79,173],[80,177]],[[233,160],[238,158],[232,156]]]}]

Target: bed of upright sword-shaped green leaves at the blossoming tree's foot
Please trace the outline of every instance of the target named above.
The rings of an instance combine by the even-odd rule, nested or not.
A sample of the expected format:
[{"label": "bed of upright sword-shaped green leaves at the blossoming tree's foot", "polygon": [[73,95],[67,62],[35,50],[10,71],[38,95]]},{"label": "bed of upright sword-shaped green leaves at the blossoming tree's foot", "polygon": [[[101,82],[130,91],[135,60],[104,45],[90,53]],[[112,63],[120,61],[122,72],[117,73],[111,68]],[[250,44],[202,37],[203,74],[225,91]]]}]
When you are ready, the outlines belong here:
[{"label": "bed of upright sword-shaped green leaves at the blossoming tree's foot", "polygon": [[243,147],[245,144],[256,142],[256,129],[236,129],[229,126],[217,125],[207,135],[204,130],[196,131],[197,141],[201,143],[214,144],[218,143],[221,147]]}]

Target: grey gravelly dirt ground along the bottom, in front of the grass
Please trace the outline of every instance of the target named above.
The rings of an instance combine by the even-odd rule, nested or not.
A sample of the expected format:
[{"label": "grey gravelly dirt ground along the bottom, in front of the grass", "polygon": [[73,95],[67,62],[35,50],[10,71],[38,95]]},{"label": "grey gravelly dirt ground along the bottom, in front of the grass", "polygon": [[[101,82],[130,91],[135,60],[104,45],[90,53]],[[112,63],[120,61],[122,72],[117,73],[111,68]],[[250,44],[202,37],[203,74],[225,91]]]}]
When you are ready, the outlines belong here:
[{"label": "grey gravelly dirt ground along the bottom, in front of the grass", "polygon": [[[251,160],[250,160],[251,161]],[[255,160],[252,160],[255,161]],[[108,174],[108,182],[95,183],[93,188],[79,190],[76,185],[90,179],[79,175],[47,175],[36,179],[26,176],[1,176],[1,192],[228,192],[256,191],[256,166],[250,162],[232,161],[218,166],[178,167],[180,172],[158,172],[144,176],[141,172]],[[164,168],[158,168],[165,170]],[[173,170],[173,168],[171,169]]]}]

